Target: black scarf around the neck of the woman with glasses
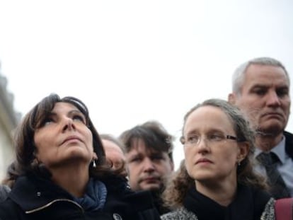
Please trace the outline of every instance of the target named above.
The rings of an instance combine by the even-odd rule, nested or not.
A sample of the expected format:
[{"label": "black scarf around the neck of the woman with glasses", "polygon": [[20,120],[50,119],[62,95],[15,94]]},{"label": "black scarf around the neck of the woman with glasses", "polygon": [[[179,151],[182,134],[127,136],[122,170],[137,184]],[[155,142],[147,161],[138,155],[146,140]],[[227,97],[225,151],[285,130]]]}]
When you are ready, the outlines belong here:
[{"label": "black scarf around the neck of the woman with glasses", "polygon": [[234,201],[228,207],[224,207],[197,192],[193,187],[185,196],[183,205],[190,212],[195,213],[199,220],[254,220],[260,219],[269,199],[270,195],[266,192],[239,185]]}]

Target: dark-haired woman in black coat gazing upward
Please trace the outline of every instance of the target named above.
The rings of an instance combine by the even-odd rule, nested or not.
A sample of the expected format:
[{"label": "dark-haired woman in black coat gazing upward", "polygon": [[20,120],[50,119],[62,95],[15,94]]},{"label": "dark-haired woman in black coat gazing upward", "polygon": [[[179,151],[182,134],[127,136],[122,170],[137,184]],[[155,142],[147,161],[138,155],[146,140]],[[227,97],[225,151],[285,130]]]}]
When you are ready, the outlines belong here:
[{"label": "dark-haired woman in black coat gazing upward", "polygon": [[159,219],[149,192],[132,192],[105,162],[81,100],[41,100],[16,129],[15,147],[15,181],[0,219]]}]

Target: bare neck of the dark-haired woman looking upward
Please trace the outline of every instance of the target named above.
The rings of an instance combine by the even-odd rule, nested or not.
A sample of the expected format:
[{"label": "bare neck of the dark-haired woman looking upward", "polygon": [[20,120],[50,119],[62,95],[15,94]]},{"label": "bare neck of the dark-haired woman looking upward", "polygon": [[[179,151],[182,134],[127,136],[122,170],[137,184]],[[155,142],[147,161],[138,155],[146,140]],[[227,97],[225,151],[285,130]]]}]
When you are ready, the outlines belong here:
[{"label": "bare neck of the dark-haired woman looking upward", "polygon": [[[86,170],[86,171],[85,171]],[[75,197],[82,197],[88,184],[88,167],[67,166],[51,170],[52,181]]]}]

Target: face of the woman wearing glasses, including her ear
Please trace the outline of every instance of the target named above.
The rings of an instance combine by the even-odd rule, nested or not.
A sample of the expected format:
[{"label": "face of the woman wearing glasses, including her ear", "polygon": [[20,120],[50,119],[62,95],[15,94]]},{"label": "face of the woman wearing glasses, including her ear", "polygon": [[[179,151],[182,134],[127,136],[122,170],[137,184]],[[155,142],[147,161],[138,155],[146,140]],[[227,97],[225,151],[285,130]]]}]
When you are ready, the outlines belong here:
[{"label": "face of the woman wearing glasses, including her ear", "polygon": [[[219,108],[203,106],[193,111],[183,128],[185,166],[195,183],[236,183],[236,166],[246,156],[246,147],[236,140],[229,117]],[[231,182],[232,181],[232,182]]]}]

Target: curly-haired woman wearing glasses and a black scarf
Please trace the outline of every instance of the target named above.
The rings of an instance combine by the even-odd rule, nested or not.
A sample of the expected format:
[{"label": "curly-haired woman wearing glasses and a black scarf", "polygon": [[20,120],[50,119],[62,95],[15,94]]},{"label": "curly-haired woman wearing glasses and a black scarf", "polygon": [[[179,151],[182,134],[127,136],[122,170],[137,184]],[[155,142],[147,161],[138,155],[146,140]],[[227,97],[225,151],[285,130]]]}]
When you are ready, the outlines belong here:
[{"label": "curly-haired woman wearing glasses and a black scarf", "polygon": [[161,219],[275,219],[275,200],[253,172],[254,133],[224,100],[205,100],[184,117],[185,161],[163,193],[175,209]]}]

